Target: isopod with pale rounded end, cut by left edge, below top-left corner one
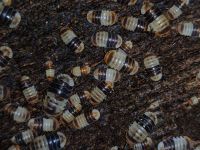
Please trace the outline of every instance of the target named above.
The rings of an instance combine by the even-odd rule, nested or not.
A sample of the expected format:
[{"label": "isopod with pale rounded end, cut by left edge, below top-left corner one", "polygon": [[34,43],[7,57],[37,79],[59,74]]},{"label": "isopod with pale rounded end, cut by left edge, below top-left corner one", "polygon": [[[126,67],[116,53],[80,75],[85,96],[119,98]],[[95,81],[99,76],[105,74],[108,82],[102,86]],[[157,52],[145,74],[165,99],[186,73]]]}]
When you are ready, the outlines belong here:
[{"label": "isopod with pale rounded end, cut by left edge, below top-left corner one", "polygon": [[13,52],[10,47],[7,46],[0,47],[0,71],[8,65],[12,57],[13,57]]}]

